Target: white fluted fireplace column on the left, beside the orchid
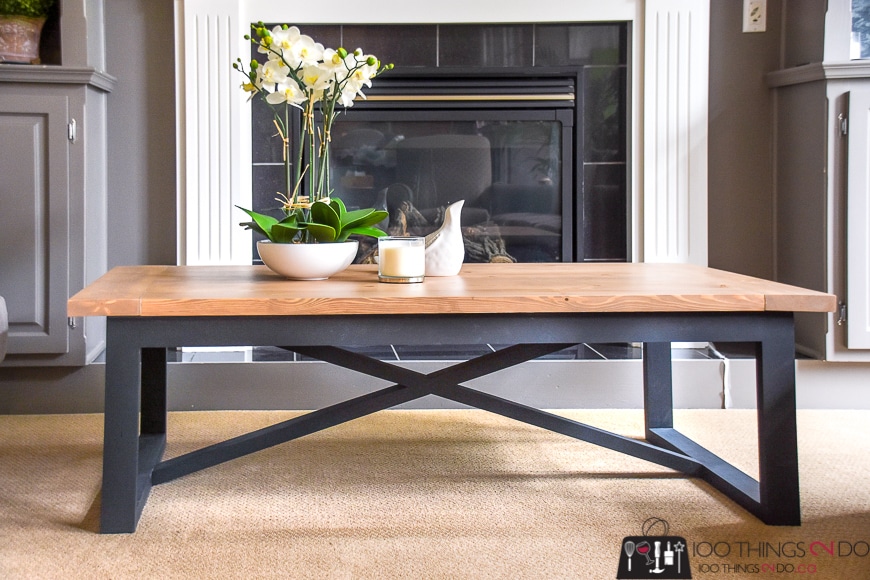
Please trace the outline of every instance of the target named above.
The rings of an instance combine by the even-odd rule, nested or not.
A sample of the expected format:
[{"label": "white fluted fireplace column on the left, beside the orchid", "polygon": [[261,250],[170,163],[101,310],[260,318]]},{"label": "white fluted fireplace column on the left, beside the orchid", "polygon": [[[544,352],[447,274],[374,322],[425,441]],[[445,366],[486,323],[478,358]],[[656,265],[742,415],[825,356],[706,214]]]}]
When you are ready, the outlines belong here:
[{"label": "white fluted fireplace column on the left, beside the orchid", "polygon": [[177,69],[184,95],[178,132],[182,264],[251,263],[251,234],[238,226],[244,215],[234,207],[251,201],[250,110],[237,98],[242,79],[232,69],[249,50],[240,30],[236,0],[182,0],[176,30],[183,47]]}]

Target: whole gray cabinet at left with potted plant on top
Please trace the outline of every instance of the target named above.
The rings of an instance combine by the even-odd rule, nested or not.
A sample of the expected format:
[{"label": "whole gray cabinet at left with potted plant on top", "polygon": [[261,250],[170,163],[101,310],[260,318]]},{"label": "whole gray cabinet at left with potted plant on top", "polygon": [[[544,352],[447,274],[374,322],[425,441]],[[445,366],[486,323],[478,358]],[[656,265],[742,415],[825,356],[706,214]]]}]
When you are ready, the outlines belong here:
[{"label": "whole gray cabinet at left with potted plant on top", "polygon": [[61,0],[60,62],[0,65],[2,366],[83,365],[105,324],[66,301],[106,270],[106,103],[102,0]]}]

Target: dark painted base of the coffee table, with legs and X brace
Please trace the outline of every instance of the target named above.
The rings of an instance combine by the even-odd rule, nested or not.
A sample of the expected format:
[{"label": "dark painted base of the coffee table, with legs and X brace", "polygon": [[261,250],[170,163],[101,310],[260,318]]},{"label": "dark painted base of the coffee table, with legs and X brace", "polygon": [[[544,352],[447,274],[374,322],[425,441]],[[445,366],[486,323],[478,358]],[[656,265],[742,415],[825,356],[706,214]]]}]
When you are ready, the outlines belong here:
[{"label": "dark painted base of the coffee table, with legs and X brace", "polygon": [[[458,341],[514,346],[429,374],[324,346]],[[674,429],[670,343],[698,341],[756,344],[758,481]],[[581,342],[643,342],[646,441],[462,384]],[[167,348],[284,344],[283,348],[394,384],[186,455],[162,459]],[[153,485],[426,395],[701,478],[767,524],[800,524],[791,314],[185,317],[108,320],[100,531],[135,531]]]}]

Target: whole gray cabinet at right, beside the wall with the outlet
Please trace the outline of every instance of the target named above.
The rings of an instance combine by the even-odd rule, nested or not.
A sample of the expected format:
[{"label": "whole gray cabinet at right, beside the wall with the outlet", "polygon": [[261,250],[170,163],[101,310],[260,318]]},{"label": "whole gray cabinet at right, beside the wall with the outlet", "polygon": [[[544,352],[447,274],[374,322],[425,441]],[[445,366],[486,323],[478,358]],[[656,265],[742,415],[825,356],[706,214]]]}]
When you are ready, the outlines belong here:
[{"label": "whole gray cabinet at right, beside the wall with the outlet", "polygon": [[849,0],[811,6],[788,11],[784,68],[767,75],[777,115],[776,274],[841,304],[796,317],[804,353],[870,362],[870,61],[850,60]]}]

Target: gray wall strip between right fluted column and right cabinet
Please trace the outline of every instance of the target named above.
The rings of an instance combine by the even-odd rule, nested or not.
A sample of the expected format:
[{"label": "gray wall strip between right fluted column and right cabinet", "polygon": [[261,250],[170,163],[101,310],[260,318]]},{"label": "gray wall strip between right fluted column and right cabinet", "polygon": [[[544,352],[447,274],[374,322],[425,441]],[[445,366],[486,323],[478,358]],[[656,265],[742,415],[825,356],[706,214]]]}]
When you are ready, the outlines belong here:
[{"label": "gray wall strip between right fluted column and right cabinet", "polygon": [[781,2],[767,32],[743,33],[743,3],[710,6],[709,264],[772,278],[773,106],[764,82],[779,68]]}]

